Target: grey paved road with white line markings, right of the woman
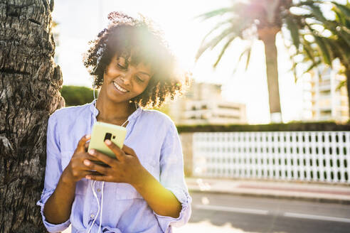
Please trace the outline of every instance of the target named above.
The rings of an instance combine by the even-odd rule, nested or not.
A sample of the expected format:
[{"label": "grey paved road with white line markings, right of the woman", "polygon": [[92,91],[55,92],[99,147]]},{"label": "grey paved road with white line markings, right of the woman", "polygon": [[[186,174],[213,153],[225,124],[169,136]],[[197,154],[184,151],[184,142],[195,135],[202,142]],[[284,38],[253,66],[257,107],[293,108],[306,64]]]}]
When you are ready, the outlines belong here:
[{"label": "grey paved road with white line markings, right of the woman", "polygon": [[213,193],[191,197],[191,223],[229,223],[240,232],[350,232],[350,205]]}]

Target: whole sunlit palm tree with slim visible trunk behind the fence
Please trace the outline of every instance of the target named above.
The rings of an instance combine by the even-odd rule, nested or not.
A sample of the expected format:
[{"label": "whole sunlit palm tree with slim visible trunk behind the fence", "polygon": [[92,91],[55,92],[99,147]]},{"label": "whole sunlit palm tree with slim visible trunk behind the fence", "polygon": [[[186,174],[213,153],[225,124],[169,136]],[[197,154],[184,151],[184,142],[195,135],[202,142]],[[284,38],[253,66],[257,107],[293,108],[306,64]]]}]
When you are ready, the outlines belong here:
[{"label": "whole sunlit palm tree with slim visible trunk behind the fence", "polygon": [[[292,0],[248,0],[233,1],[232,6],[203,13],[198,18],[207,20],[221,17],[214,28],[203,38],[196,59],[204,51],[215,48],[221,41],[223,47],[213,67],[220,62],[227,48],[237,38],[243,40],[263,40],[267,69],[267,87],[269,93],[270,116],[272,121],[281,121],[280,93],[277,72],[276,35],[282,28],[287,29],[287,40],[292,40],[299,50],[302,41],[299,40],[300,31],[304,30],[304,21],[315,20],[322,16],[320,5],[324,1]],[[307,8],[307,13],[300,11]],[[213,36],[214,34],[218,36]],[[211,38],[209,38],[211,36]],[[245,56],[246,67],[250,60],[251,44],[239,55],[239,60]]]}]

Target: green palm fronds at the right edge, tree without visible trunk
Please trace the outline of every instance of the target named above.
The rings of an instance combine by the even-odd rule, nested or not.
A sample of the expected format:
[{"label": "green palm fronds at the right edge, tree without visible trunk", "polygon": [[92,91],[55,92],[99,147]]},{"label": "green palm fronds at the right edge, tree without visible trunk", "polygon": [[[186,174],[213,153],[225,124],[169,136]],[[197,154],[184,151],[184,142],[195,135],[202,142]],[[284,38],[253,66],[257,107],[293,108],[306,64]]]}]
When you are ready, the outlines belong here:
[{"label": "green palm fronds at the right edge, tree without visible trunk", "polygon": [[[297,70],[297,56],[302,54],[304,62],[309,63],[304,72],[309,72],[314,67],[323,63],[332,67],[332,61],[340,60],[344,70],[341,72],[346,76],[348,100],[350,103],[350,4],[345,5],[329,2],[332,4],[334,19],[325,18],[321,13],[314,21],[303,21],[303,31],[300,31],[299,40],[302,41],[302,48],[295,50],[292,54],[293,70]],[[350,108],[349,108],[350,116]]]}]

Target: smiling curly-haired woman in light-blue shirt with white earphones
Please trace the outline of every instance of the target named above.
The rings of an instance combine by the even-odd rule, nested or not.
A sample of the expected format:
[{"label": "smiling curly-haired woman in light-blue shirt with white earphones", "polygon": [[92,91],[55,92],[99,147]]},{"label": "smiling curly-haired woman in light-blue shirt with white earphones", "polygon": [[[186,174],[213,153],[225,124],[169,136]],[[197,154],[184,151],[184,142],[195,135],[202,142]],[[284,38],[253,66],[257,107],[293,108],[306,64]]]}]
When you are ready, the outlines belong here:
[{"label": "smiling curly-haired woman in light-blue shirt with white earphones", "polygon": [[[149,21],[118,12],[108,18],[110,25],[84,58],[100,87],[97,100],[59,109],[48,120],[38,201],[43,223],[49,232],[70,224],[72,232],[171,232],[191,216],[181,142],[169,116],[142,107],[174,99],[189,79],[176,72],[173,55]],[[105,141],[117,159],[87,151],[96,121],[126,127],[122,148]]]}]

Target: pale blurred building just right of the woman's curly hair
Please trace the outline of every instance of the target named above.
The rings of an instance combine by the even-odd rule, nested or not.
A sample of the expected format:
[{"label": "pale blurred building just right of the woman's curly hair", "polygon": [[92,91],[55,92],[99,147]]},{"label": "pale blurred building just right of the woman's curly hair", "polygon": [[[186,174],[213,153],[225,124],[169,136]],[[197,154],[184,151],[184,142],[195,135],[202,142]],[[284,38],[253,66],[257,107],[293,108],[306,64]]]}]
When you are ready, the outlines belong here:
[{"label": "pale blurred building just right of the woman's curly hair", "polygon": [[193,82],[183,97],[169,105],[176,124],[246,124],[245,104],[221,97],[221,85]]}]

